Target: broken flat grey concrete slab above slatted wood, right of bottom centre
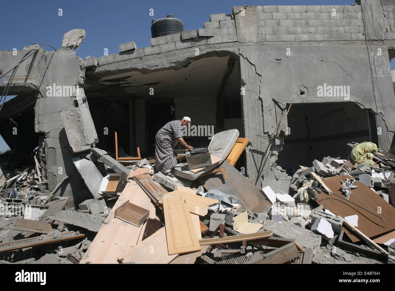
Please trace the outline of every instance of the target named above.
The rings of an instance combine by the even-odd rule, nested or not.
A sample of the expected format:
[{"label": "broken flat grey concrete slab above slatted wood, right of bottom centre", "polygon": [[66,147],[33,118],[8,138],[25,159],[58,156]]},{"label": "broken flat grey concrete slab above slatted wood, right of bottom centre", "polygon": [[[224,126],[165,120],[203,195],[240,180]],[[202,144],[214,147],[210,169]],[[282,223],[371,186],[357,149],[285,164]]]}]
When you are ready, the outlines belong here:
[{"label": "broken flat grey concrete slab above slatted wood, right of bottom centre", "polygon": [[[320,235],[287,221],[276,223],[274,221],[267,220],[263,225],[263,230],[270,230],[273,232],[274,237],[295,239],[303,247],[311,247],[313,249],[313,253],[315,253],[317,248],[321,245]],[[258,232],[263,230],[261,229]]]}]

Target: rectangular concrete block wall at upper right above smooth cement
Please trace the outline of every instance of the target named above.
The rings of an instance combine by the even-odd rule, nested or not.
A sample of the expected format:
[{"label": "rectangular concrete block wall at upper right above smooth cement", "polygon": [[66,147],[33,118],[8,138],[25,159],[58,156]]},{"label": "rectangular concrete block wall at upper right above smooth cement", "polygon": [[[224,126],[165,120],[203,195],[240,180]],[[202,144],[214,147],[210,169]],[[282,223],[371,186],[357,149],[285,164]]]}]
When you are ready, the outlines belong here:
[{"label": "rectangular concrete block wall at upper right above smooth cement", "polygon": [[263,42],[354,40],[362,44],[365,40],[361,6],[257,7],[258,35]]}]

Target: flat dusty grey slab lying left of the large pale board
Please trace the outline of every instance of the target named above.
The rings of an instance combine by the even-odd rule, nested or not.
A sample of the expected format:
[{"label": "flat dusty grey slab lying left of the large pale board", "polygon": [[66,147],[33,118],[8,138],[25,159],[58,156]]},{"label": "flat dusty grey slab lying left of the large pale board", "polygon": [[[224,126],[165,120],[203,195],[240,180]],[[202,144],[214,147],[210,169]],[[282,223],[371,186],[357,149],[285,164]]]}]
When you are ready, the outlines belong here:
[{"label": "flat dusty grey slab lying left of the large pale board", "polygon": [[50,215],[48,218],[66,224],[79,226],[93,232],[98,232],[104,221],[104,217],[102,216],[71,210],[59,211],[56,215]]}]

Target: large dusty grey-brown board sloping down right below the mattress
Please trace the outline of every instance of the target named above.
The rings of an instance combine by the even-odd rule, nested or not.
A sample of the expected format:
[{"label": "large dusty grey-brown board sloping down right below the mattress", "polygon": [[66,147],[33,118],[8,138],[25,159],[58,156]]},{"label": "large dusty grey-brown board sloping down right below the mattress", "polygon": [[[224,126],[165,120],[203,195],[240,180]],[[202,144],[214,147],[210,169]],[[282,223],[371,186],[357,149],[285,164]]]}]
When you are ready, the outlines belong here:
[{"label": "large dusty grey-brown board sloping down right below the mattress", "polygon": [[241,207],[238,211],[251,209],[252,212],[261,212],[265,205],[271,206],[271,203],[265,199],[263,194],[252,184],[243,174],[235,167],[224,161],[221,167],[225,167],[228,179],[224,179],[221,172],[213,175],[199,177],[198,181],[207,190],[218,189],[229,195],[239,198]]}]

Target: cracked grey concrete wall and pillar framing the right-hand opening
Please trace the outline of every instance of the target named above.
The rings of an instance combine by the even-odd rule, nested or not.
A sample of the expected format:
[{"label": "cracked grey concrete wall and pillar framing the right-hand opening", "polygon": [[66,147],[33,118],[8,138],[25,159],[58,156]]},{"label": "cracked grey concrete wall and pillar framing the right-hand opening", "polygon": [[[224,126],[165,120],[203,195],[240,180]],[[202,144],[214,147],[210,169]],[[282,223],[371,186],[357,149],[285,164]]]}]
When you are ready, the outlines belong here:
[{"label": "cracked grey concrete wall and pillar framing the right-hand opening", "polygon": [[[248,149],[248,175],[260,184],[261,175],[276,161],[276,152],[282,141],[269,140],[280,120],[280,104],[354,102],[361,108],[370,108],[378,113],[377,126],[382,128],[379,145],[389,149],[395,131],[395,101],[391,76],[374,76],[376,65],[371,52],[379,47],[369,46],[288,46],[242,47],[241,78],[245,82],[243,112],[246,137],[251,139]],[[383,52],[385,47],[380,47]],[[352,56],[352,57],[350,57]],[[319,97],[318,86],[349,86],[349,97]],[[301,95],[301,87],[305,93]],[[255,121],[249,116],[260,116]],[[361,118],[366,118],[361,116]],[[322,126],[330,120],[322,120]],[[291,128],[284,123],[282,127]],[[375,130],[375,129],[372,129]],[[260,137],[261,135],[262,137]],[[273,154],[274,151],[274,154]],[[322,157],[320,157],[322,158]],[[269,163],[267,163],[269,161]]]}]

